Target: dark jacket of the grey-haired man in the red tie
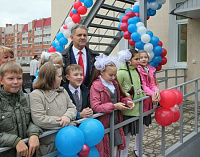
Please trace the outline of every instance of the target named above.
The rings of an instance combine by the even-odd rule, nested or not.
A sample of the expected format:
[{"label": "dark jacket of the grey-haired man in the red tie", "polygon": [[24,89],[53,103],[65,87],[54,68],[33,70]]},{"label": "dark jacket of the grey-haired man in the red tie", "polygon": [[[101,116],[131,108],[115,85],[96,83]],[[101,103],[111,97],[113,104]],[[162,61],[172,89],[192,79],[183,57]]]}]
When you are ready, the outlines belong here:
[{"label": "dark jacket of the grey-haired man in the red tie", "polygon": [[[62,56],[63,56],[63,63],[64,63],[64,67],[63,67],[63,70],[64,70],[64,74],[65,74],[65,69],[68,65],[72,64],[72,61],[71,61],[71,49],[72,49],[72,46],[73,45],[70,45],[68,48],[66,48],[65,50],[63,50],[61,53],[62,53]],[[89,84],[90,84],[90,81],[92,79],[92,74],[93,74],[93,71],[94,71],[94,62],[95,62],[95,57],[98,56],[99,54],[98,53],[95,53],[93,50],[89,49],[88,47],[85,47],[86,49],[86,52],[87,52],[87,67],[89,69],[87,69],[88,71],[88,76],[87,76],[87,79],[84,80],[83,84],[86,85],[87,87],[89,87]]]}]

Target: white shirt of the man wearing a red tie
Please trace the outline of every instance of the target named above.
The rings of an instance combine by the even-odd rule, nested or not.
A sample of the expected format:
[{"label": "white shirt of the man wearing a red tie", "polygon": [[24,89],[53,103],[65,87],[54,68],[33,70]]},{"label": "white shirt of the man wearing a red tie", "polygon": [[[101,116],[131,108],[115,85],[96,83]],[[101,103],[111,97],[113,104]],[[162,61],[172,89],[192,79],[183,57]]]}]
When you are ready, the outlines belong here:
[{"label": "white shirt of the man wearing a red tie", "polygon": [[85,76],[86,76],[86,72],[87,72],[87,55],[86,55],[85,47],[82,50],[79,50],[79,49],[75,48],[74,45],[73,45],[72,46],[72,50],[74,52],[74,56],[75,56],[77,64],[78,64],[78,60],[79,60],[79,51],[82,51],[82,58],[83,58],[83,64],[84,64],[84,73],[85,73]]}]

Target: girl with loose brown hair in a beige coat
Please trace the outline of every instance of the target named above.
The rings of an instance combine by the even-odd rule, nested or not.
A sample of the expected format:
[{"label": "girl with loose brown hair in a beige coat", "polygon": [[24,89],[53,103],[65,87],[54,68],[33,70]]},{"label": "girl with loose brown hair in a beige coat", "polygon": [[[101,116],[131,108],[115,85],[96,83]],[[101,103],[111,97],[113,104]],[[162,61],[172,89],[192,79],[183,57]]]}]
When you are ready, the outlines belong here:
[{"label": "girl with loose brown hair in a beige coat", "polygon": [[[31,115],[33,122],[45,130],[60,129],[69,125],[76,118],[76,106],[72,103],[67,91],[60,87],[62,66],[45,63],[33,83],[34,91],[30,94]],[[41,139],[38,157],[56,150],[55,135]]]}]

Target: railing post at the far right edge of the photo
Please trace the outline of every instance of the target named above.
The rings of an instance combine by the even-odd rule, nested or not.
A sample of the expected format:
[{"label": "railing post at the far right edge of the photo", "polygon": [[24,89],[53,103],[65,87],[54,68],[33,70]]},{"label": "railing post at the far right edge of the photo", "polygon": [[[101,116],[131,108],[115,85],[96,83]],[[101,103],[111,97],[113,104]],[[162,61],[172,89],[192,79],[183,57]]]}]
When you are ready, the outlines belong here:
[{"label": "railing post at the far right edge of the photo", "polygon": [[198,132],[198,80],[195,81],[195,132]]}]

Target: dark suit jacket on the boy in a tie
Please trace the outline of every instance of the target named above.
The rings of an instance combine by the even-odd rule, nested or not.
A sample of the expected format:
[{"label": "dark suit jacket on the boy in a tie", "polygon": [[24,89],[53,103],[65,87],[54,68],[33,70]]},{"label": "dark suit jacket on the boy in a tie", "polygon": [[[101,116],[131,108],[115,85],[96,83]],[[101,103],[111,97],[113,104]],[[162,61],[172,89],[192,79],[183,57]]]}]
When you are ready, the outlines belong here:
[{"label": "dark suit jacket on the boy in a tie", "polygon": [[[74,100],[72,92],[69,90],[69,84],[65,83],[62,86],[68,92],[73,104],[76,105],[76,101]],[[81,111],[82,111],[84,108],[90,107],[90,90],[84,84],[82,84],[80,88],[82,92],[82,108],[81,108]],[[80,112],[77,113],[76,119],[80,119]]]}]

